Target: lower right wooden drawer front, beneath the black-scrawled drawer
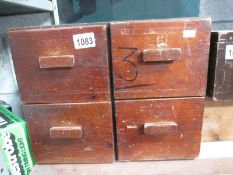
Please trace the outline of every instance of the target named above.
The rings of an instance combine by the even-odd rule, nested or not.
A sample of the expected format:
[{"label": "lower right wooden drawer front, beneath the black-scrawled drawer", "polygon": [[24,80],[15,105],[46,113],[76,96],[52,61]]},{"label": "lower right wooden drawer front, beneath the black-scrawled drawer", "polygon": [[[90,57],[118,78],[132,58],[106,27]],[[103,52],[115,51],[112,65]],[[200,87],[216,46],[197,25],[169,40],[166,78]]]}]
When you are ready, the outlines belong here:
[{"label": "lower right wooden drawer front, beneath the black-scrawled drawer", "polygon": [[116,101],[119,160],[199,154],[203,98]]}]

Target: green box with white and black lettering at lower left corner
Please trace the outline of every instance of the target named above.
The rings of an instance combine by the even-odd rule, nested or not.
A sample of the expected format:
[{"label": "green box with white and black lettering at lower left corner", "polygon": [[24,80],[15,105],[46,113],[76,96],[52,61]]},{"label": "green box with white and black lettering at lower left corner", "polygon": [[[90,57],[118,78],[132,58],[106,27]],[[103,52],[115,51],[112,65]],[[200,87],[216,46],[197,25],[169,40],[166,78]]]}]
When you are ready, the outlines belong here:
[{"label": "green box with white and black lettering at lower left corner", "polygon": [[0,106],[0,174],[28,175],[33,165],[25,121]]}]

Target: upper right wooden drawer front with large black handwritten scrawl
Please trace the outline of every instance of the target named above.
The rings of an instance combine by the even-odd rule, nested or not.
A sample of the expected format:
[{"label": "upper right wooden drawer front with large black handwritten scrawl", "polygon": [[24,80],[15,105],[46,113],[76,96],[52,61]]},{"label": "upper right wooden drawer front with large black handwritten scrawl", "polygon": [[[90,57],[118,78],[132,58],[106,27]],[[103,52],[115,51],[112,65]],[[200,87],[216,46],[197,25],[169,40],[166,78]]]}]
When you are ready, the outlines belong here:
[{"label": "upper right wooden drawer front with large black handwritten scrawl", "polygon": [[111,23],[116,99],[203,96],[210,21]]}]

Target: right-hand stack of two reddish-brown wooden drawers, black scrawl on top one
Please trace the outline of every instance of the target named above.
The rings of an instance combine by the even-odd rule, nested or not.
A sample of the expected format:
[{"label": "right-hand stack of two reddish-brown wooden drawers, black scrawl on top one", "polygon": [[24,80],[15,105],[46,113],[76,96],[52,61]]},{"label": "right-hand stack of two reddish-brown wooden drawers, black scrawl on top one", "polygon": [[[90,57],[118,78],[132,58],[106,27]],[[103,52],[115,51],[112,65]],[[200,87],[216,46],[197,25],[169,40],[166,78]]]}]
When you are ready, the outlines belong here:
[{"label": "right-hand stack of two reddish-brown wooden drawers, black scrawl on top one", "polygon": [[210,20],[124,21],[110,29],[119,160],[196,157]]}]

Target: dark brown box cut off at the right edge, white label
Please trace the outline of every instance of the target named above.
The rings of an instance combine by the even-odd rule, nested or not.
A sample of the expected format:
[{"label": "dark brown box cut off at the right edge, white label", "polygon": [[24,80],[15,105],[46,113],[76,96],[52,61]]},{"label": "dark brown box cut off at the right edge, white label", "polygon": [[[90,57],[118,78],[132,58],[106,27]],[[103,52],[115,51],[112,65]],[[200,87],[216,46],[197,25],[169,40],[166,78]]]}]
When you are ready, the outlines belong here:
[{"label": "dark brown box cut off at the right edge, white label", "polygon": [[207,95],[233,99],[233,31],[213,32],[210,48]]}]

